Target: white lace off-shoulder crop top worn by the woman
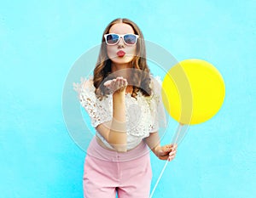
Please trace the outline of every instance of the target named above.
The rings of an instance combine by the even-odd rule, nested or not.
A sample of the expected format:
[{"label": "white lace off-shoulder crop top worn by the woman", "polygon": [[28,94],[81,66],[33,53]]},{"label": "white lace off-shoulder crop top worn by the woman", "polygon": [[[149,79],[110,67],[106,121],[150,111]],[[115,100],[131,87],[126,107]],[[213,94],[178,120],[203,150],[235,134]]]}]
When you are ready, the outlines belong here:
[{"label": "white lace off-shoulder crop top worn by the woman", "polygon": [[[135,148],[144,138],[149,136],[149,133],[157,132],[159,127],[166,126],[159,77],[152,77],[150,88],[152,88],[152,94],[148,97],[143,96],[140,92],[137,93],[137,99],[131,97],[130,93],[125,94],[127,150]],[[81,83],[74,83],[74,89],[78,92],[80,104],[89,114],[93,127],[97,127],[103,122],[112,121],[112,94],[102,100],[97,99],[92,81],[84,78],[81,78]],[[113,149],[97,131],[96,136],[102,139],[108,148]]]}]

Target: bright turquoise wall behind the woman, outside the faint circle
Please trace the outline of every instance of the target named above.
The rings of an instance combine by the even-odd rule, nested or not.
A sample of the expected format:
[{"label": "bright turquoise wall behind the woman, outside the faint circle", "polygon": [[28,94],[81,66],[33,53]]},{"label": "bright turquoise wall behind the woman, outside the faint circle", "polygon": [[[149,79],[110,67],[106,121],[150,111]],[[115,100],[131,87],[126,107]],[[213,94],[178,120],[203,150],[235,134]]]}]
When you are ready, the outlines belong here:
[{"label": "bright turquoise wall behind the woman, outside the faint circle", "polygon": [[[255,10],[253,0],[1,2],[0,197],[83,197],[85,153],[67,133],[62,88],[117,17],[177,60],[211,62],[226,83],[222,109],[189,128],[154,197],[255,197]],[[152,186],[163,166],[152,156]]]}]

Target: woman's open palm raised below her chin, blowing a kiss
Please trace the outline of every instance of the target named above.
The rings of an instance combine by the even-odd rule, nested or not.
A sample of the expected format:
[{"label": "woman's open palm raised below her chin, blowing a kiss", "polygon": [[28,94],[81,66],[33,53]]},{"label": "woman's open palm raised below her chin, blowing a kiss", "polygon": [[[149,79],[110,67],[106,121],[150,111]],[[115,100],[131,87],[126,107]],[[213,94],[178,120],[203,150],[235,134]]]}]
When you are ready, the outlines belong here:
[{"label": "woman's open palm raised below her chin, blowing a kiss", "polygon": [[114,78],[113,80],[105,82],[104,86],[110,89],[112,93],[115,93],[124,92],[125,88],[127,87],[127,84],[127,80],[124,77],[119,76],[117,78]]}]

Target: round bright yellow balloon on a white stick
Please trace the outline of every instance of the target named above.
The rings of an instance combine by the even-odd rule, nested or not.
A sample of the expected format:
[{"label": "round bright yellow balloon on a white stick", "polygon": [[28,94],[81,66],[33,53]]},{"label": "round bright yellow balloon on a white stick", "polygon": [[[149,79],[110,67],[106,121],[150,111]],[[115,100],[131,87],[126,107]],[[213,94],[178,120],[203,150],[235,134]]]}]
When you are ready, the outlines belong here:
[{"label": "round bright yellow balloon on a white stick", "polygon": [[162,99],[168,113],[182,124],[211,119],[224,102],[224,79],[205,60],[185,59],[167,72]]}]

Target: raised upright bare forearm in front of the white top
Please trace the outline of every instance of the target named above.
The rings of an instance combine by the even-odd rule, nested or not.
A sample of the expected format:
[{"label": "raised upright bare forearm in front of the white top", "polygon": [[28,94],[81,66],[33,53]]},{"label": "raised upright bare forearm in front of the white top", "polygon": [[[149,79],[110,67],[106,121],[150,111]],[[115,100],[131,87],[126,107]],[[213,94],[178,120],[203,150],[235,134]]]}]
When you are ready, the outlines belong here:
[{"label": "raised upright bare forearm in front of the white top", "polygon": [[124,92],[113,93],[113,120],[108,133],[108,143],[120,152],[127,150]]}]

